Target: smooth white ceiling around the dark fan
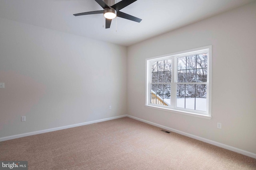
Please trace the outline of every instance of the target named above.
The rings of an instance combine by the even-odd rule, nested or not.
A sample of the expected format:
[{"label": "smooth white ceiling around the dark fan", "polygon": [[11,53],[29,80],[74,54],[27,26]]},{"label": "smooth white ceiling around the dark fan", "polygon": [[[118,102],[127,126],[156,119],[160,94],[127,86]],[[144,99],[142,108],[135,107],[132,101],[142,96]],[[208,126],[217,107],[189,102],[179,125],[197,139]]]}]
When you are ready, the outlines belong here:
[{"label": "smooth white ceiling around the dark fan", "polygon": [[142,21],[117,18],[110,29],[102,27],[103,14],[73,16],[102,10],[94,0],[0,0],[0,18],[129,46],[254,1],[137,0],[120,11]]}]

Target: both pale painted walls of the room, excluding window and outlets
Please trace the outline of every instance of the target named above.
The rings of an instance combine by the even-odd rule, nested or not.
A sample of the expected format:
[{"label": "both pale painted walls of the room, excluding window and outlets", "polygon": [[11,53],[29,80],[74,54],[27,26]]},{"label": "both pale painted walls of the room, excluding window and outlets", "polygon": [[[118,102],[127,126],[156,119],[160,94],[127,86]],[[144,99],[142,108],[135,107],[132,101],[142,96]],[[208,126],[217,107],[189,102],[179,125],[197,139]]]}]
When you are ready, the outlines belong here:
[{"label": "both pale painted walls of the room, excluding window and outlets", "polygon": [[[0,138],[128,113],[256,153],[256,3],[128,50],[1,18],[0,25]],[[146,58],[207,45],[212,119],[144,106]]]}]

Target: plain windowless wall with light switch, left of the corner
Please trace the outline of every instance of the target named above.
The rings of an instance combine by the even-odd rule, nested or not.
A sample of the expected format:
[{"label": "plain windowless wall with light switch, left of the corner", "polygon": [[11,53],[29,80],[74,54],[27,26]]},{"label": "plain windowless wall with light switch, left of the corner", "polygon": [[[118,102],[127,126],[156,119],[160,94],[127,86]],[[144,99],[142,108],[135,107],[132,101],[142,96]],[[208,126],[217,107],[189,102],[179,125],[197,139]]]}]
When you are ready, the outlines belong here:
[{"label": "plain windowless wall with light switch, left of the corner", "polygon": [[0,25],[0,138],[126,114],[126,47]]}]

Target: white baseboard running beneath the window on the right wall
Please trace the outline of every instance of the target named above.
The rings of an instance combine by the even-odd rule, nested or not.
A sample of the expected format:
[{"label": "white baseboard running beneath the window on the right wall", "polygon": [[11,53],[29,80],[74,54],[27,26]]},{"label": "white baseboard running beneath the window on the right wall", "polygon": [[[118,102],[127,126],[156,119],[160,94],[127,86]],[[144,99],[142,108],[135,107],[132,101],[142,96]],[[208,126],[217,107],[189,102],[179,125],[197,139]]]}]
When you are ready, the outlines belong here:
[{"label": "white baseboard running beneath the window on the right wall", "polygon": [[233,152],[237,152],[237,153],[240,153],[240,154],[244,154],[246,156],[250,156],[252,158],[255,158],[256,159],[256,154],[255,153],[252,153],[252,152],[248,152],[246,150],[242,150],[242,149],[238,149],[238,148],[235,148],[235,147],[231,147],[229,145],[225,145],[225,144],[222,144],[222,143],[218,143],[218,142],[215,142],[215,141],[211,141],[209,139],[205,139],[205,138],[202,138],[202,137],[199,137],[199,136],[196,136],[196,135],[192,135],[190,133],[186,133],[186,132],[182,132],[182,131],[179,131],[179,130],[176,130],[176,129],[172,129],[170,127],[166,127],[166,126],[163,126],[163,125],[159,125],[157,123],[153,123],[151,121],[146,121],[144,119],[140,119],[138,117],[134,117],[134,116],[130,116],[130,115],[127,115],[127,117],[130,117],[132,119],[136,119],[138,121],[142,121],[144,123],[148,123],[150,125],[154,125],[156,127],[160,127],[162,129],[166,129],[168,131],[172,131],[174,133],[178,133],[180,135],[184,135],[184,136],[187,136],[187,137],[191,137],[193,139],[197,139],[198,141],[203,141],[205,143],[209,143],[209,144],[212,144],[212,145],[215,145],[217,147],[221,147],[221,148],[224,148],[224,149],[228,149],[228,150],[231,150]]}]

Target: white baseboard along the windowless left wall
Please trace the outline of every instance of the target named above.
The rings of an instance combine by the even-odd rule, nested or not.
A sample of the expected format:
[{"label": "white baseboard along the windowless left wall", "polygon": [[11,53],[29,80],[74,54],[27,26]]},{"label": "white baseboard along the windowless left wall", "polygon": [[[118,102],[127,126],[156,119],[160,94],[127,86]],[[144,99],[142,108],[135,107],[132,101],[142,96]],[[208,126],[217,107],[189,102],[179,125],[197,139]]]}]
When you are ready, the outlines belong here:
[{"label": "white baseboard along the windowless left wall", "polygon": [[95,121],[88,121],[88,122],[84,122],[84,123],[77,123],[77,124],[74,124],[74,125],[67,125],[67,126],[56,127],[56,128],[52,128],[52,129],[45,129],[45,130],[41,130],[41,131],[34,131],[34,132],[29,132],[29,133],[22,133],[22,134],[19,134],[19,135],[2,137],[2,138],[0,138],[0,142],[1,141],[7,141],[7,140],[10,140],[10,139],[16,139],[16,138],[20,138],[20,137],[37,135],[37,134],[40,134],[40,133],[47,133],[47,132],[58,131],[58,130],[62,130],[62,129],[68,129],[68,128],[71,128],[71,127],[89,125],[89,124],[92,124],[92,123],[98,123],[98,122],[102,122],[102,121],[118,119],[118,118],[121,118],[121,117],[127,117],[127,115],[115,116],[115,117],[110,117],[110,118],[106,118],[106,119],[100,119],[100,120],[95,120]]}]

